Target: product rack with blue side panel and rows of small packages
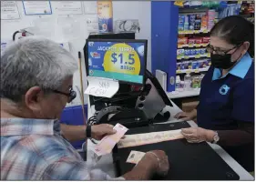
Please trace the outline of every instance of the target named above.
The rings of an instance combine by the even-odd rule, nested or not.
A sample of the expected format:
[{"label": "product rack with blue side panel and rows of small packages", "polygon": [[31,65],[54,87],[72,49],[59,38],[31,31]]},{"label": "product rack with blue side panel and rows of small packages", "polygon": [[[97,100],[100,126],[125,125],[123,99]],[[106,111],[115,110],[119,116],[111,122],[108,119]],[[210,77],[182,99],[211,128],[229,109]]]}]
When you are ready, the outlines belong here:
[{"label": "product rack with blue side panel and rows of small packages", "polygon": [[[185,5],[186,3],[188,4]],[[248,3],[250,4],[248,5]],[[196,4],[198,6],[193,6]],[[219,18],[221,19],[225,17],[225,15],[233,14],[248,16],[250,18],[254,17],[252,4],[254,5],[254,2],[216,1],[215,5],[213,5],[213,1],[197,1],[197,3],[196,1],[184,1],[184,7],[179,7],[178,5],[174,5],[174,2],[172,1],[151,2],[151,72],[155,74],[158,69],[166,73],[167,93],[173,91],[179,91],[181,93],[181,89],[177,89],[176,86],[176,76],[179,76],[182,81],[183,77],[188,73],[191,76],[201,76],[208,71],[210,61],[205,64],[202,64],[201,62],[210,59],[210,54],[207,53],[206,50],[200,50],[199,52],[197,49],[206,49],[209,42],[200,41],[197,37],[210,38],[211,27],[219,21]],[[239,9],[240,5],[243,10]],[[233,9],[235,9],[235,11],[233,11]],[[209,12],[210,10],[211,12]],[[253,14],[251,14],[252,10]],[[215,11],[215,15],[211,15],[213,11]],[[184,24],[187,23],[186,28],[180,29],[179,15],[193,14],[210,15],[211,17],[210,21],[207,22],[207,28],[199,28],[198,26],[199,22],[201,21],[202,24],[202,21],[205,21],[205,19],[197,19],[197,27],[194,29],[188,28],[188,19],[184,18],[182,21]],[[206,25],[206,23],[204,23],[204,25]],[[209,25],[211,27],[208,27]],[[185,41],[184,38],[184,40],[181,40],[182,44],[180,44],[179,37],[188,37],[188,40],[196,37],[196,40]],[[181,51],[181,53],[179,51]],[[185,51],[187,51],[186,54]],[[187,63],[196,62],[198,60],[200,60],[201,65]],[[183,65],[183,63],[185,64]],[[193,89],[183,92],[187,93],[188,96],[195,96],[199,93],[199,90],[200,88],[197,88],[197,92]],[[190,95],[189,93],[192,94]]]}]

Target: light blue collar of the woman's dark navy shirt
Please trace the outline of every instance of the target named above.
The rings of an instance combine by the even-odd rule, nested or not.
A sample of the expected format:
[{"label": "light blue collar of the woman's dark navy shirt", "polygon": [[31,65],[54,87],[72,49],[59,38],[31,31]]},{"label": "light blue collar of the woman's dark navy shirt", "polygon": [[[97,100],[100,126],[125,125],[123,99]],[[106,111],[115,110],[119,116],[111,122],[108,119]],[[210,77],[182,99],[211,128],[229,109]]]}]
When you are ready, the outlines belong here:
[{"label": "light blue collar of the woman's dark navy shirt", "polygon": [[[251,67],[251,63],[252,63],[251,56],[248,53],[246,53],[244,56],[242,56],[240,62],[236,66],[234,66],[228,74],[231,74],[233,76],[238,76],[241,79],[243,79],[244,76],[246,76],[249,68]],[[214,68],[213,75],[212,75],[212,81],[225,77],[225,76],[222,76],[222,77],[220,77],[220,76],[221,76],[220,69]]]}]

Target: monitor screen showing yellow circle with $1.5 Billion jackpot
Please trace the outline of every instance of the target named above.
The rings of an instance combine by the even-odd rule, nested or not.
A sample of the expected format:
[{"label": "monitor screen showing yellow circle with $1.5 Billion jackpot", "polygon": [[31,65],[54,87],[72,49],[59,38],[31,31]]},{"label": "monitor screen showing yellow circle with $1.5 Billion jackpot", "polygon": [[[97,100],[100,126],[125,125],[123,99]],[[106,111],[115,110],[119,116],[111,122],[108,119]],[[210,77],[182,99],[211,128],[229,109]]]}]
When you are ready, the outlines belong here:
[{"label": "monitor screen showing yellow circle with $1.5 Billion jackpot", "polygon": [[87,40],[88,76],[144,84],[147,40]]}]

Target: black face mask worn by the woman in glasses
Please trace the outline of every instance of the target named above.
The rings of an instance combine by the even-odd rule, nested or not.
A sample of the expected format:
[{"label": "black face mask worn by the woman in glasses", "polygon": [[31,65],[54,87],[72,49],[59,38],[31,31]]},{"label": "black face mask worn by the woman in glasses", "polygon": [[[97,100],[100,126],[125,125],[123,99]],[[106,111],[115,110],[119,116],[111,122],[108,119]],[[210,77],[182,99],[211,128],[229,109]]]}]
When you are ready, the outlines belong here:
[{"label": "black face mask worn by the woman in glasses", "polygon": [[[234,48],[238,48],[240,45],[236,45]],[[230,50],[232,50],[230,49]],[[227,54],[227,52],[230,52],[230,50],[225,51],[224,54],[219,55],[219,54],[212,54],[213,51],[210,52],[210,60],[211,60],[211,65],[220,68],[220,69],[229,69],[230,67],[234,66],[236,62],[239,60],[239,57],[235,61],[231,61],[231,56],[236,52],[234,51],[232,54]]]}]

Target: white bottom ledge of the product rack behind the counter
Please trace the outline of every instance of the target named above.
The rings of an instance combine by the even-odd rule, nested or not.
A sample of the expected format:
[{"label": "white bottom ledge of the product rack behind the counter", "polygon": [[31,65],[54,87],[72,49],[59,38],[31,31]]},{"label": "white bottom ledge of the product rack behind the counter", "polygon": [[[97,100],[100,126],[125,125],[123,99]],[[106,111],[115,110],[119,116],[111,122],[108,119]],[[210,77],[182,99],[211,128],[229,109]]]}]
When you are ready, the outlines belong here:
[{"label": "white bottom ledge of the product rack behind the counter", "polygon": [[189,96],[200,96],[200,88],[191,88],[191,90],[168,92],[167,96],[170,99],[189,97]]}]

